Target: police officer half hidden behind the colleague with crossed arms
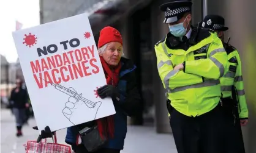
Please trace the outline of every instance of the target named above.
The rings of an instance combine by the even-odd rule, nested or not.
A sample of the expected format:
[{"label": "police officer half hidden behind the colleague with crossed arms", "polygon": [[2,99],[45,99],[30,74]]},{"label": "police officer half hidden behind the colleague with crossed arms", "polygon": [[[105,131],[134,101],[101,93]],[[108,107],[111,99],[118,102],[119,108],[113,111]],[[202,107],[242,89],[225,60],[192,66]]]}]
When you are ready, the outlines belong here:
[{"label": "police officer half hidden behind the colleague with crossed arms", "polygon": [[225,19],[219,15],[207,15],[201,26],[214,30],[224,44],[228,55],[228,72],[220,79],[223,94],[225,132],[225,152],[243,153],[244,143],[241,126],[248,123],[248,109],[244,92],[241,60],[236,48],[224,43]]}]

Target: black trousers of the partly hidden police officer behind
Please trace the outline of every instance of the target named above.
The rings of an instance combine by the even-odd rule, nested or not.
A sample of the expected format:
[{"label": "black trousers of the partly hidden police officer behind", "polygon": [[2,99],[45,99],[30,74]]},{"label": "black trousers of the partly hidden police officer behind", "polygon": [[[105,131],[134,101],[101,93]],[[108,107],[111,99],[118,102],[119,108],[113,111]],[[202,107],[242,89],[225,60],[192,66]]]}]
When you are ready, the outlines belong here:
[{"label": "black trousers of the partly hidden police officer behind", "polygon": [[[243,133],[241,130],[238,108],[233,107],[232,99],[223,100],[225,123],[225,153],[245,153]],[[234,118],[234,115],[236,118]]]}]

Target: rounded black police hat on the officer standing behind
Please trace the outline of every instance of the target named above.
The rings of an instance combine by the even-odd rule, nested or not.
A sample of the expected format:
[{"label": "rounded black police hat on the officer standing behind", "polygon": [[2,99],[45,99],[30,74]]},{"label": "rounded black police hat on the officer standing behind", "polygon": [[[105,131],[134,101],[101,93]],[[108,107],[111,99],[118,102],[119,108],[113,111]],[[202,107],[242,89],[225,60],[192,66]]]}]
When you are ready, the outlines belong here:
[{"label": "rounded black police hat on the officer standing behind", "polygon": [[225,27],[225,19],[220,15],[206,15],[201,27],[219,31],[228,30],[228,27]]}]

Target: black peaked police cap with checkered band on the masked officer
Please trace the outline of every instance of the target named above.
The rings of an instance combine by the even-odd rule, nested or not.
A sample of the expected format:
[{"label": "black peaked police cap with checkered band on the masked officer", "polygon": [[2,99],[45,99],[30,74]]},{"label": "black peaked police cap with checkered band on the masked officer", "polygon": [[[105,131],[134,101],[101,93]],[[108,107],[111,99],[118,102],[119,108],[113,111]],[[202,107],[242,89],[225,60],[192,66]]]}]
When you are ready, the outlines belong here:
[{"label": "black peaked police cap with checkered band on the masked officer", "polygon": [[171,1],[160,5],[160,10],[165,12],[164,23],[174,23],[183,18],[184,13],[191,11],[192,2],[186,1]]}]

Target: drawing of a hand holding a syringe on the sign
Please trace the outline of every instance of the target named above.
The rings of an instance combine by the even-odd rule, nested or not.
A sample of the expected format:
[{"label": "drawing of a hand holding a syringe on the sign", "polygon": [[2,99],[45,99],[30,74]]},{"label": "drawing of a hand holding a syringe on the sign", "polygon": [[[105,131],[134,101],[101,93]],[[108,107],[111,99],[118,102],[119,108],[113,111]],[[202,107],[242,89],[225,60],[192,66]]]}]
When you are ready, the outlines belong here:
[{"label": "drawing of a hand holding a syringe on the sign", "polygon": [[65,104],[65,108],[62,110],[62,113],[64,116],[66,116],[67,119],[69,119],[71,123],[74,125],[80,124],[79,118],[81,118],[81,114],[83,114],[81,112],[88,113],[86,118],[89,120],[94,120],[96,118],[97,111],[101,105],[100,101],[89,101],[88,99],[83,98],[82,94],[78,94],[77,91],[75,91],[73,88],[66,88],[59,84],[53,84],[51,82],[49,83],[53,85],[57,90],[70,96],[69,100]]}]

